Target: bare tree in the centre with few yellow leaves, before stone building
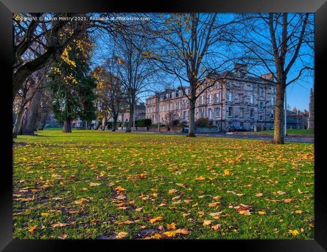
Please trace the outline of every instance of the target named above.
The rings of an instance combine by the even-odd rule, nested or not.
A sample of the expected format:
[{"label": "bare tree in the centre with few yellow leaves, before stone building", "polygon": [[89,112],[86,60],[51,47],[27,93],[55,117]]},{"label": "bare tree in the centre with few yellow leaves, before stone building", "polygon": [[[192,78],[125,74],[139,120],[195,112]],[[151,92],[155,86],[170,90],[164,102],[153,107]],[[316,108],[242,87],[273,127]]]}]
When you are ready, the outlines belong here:
[{"label": "bare tree in the centre with few yellow leaves, before stone building", "polygon": [[[221,45],[228,41],[227,28],[233,21],[227,16],[217,18],[216,13],[159,14],[151,20],[154,21],[148,29],[155,34],[155,46],[143,54],[179,80],[190,104],[187,136],[195,137],[197,98],[217,81],[225,84],[231,57],[227,57],[227,49]],[[189,85],[189,94],[185,92],[185,83]],[[200,86],[203,90],[199,92]]]}]

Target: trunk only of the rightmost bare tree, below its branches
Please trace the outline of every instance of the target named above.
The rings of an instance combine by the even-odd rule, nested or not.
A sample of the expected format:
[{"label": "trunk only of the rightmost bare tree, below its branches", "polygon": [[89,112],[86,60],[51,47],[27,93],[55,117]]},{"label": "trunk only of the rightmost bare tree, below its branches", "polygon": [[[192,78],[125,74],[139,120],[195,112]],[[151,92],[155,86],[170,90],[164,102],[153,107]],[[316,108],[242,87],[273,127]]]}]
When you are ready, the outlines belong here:
[{"label": "trunk only of the rightmost bare tree, below its branches", "polygon": [[284,116],[285,85],[278,82],[276,85],[276,105],[274,120],[273,144],[284,144],[283,116]]}]

